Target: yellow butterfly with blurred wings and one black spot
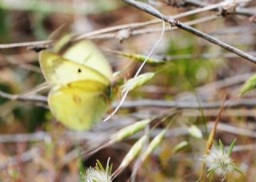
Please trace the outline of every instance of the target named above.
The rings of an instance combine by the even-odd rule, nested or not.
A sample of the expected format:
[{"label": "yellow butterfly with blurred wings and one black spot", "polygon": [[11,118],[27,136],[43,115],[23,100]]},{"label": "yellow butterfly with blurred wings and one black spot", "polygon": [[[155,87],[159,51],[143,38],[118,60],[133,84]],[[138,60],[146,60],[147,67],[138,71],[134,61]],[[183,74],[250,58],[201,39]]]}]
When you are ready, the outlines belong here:
[{"label": "yellow butterfly with blurred wings and one black spot", "polygon": [[74,130],[90,129],[114,101],[118,87],[106,57],[87,40],[66,49],[62,56],[50,51],[39,54],[48,85],[48,105],[62,124]]}]

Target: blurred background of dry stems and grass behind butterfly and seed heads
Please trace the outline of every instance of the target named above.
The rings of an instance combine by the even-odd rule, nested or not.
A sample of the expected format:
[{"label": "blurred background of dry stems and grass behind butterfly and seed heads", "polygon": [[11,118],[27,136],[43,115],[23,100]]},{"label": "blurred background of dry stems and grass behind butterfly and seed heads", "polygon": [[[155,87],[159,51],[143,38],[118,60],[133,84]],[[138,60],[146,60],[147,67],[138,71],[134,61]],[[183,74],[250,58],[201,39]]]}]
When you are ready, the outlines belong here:
[{"label": "blurred background of dry stems and grass behind butterfly and seed heads", "polygon": [[[177,15],[219,1],[198,1],[198,4],[186,0],[144,2],[162,14]],[[232,7],[201,10],[197,14],[181,15],[178,20],[255,56],[256,3],[240,3],[235,6],[236,10],[241,10],[237,12]],[[170,108],[179,107],[178,103],[185,105],[179,107],[182,114],[175,119],[162,144],[139,168],[136,179],[197,180],[206,131],[212,127],[225,94],[231,107],[222,113],[216,139],[222,139],[226,145],[237,139],[238,148],[232,157],[246,176],[234,174],[234,179],[255,180],[256,110],[250,103],[256,103],[256,93],[253,91],[243,98],[238,93],[241,85],[254,75],[256,65],[170,25],[166,25],[164,38],[152,55],[165,63],[146,65],[142,70],[142,73],[157,72],[154,79],[129,93],[126,100],[133,106],[120,109],[110,121],[100,123],[96,129],[85,133],[70,131],[54,121],[46,102],[15,101],[15,94],[28,93],[42,84],[44,78],[38,66],[38,53],[30,45],[4,49],[3,44],[46,41],[54,30],[65,25],[70,32],[92,39],[110,60],[114,71],[129,67],[125,72],[128,79],[134,76],[140,63],[120,57],[109,49],[147,55],[160,37],[162,23],[138,27],[133,24],[154,19],[120,0],[0,0],[1,181],[80,181],[86,168],[94,166],[96,160],[106,166],[109,157],[114,170],[143,131],[92,156],[85,157],[80,152],[101,144],[106,136],[135,121],[166,114]],[[124,24],[129,24],[130,28],[89,34]],[[42,93],[42,96],[46,95]],[[151,106],[140,105],[145,100],[171,106],[154,106],[154,102]],[[152,135],[161,132],[165,126],[159,125]],[[194,128],[196,132],[191,132]],[[174,150],[180,142],[185,145]],[[133,163],[116,181],[128,180],[132,171]]]}]

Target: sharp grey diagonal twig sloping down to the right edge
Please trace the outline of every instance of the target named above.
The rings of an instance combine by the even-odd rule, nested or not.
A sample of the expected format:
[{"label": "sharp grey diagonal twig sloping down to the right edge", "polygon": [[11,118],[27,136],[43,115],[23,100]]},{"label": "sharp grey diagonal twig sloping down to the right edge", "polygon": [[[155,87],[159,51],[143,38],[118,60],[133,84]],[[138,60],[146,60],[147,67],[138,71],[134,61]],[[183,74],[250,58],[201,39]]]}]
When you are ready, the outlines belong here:
[{"label": "sharp grey diagonal twig sloping down to the right edge", "polygon": [[238,56],[243,57],[248,61],[256,63],[256,57],[253,57],[250,54],[245,53],[242,50],[237,49],[232,45],[228,45],[225,42],[218,40],[217,38],[214,38],[214,37],[212,37],[208,34],[205,34],[197,29],[194,29],[191,26],[186,26],[186,24],[179,22],[178,20],[176,20],[174,18],[169,18],[166,15],[161,14],[160,12],[155,10],[152,6],[149,6],[142,2],[136,2],[134,0],[122,0],[122,1],[126,2],[127,4],[130,4],[130,6],[134,6],[134,7],[138,8],[139,10],[145,11],[148,14],[151,14],[157,18],[164,20],[165,22],[170,23],[171,26],[177,26],[178,28],[180,28],[182,30],[186,30],[187,32],[190,32],[191,34],[194,34],[194,35],[198,36],[199,38],[203,38],[208,42],[214,43],[216,45],[221,46],[224,49],[229,50],[230,52],[236,53],[236,54],[238,54]]}]

